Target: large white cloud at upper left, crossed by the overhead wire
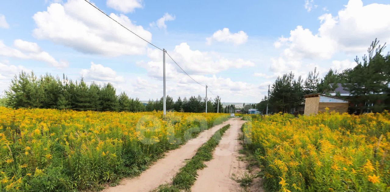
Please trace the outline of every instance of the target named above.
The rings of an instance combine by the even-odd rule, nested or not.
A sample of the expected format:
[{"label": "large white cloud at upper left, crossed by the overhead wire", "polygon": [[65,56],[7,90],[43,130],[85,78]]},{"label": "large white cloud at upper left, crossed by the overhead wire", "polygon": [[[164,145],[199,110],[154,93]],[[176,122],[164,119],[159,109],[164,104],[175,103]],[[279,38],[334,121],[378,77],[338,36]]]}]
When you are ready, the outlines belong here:
[{"label": "large white cloud at upper left, crossed by the overhead wire", "polygon": [[[137,26],[125,15],[110,16],[147,41],[152,34]],[[145,53],[147,42],[133,35],[104,14],[80,0],[66,4],[51,4],[47,11],[37,12],[33,19],[38,39],[48,39],[83,53],[106,56],[140,55]]]}]

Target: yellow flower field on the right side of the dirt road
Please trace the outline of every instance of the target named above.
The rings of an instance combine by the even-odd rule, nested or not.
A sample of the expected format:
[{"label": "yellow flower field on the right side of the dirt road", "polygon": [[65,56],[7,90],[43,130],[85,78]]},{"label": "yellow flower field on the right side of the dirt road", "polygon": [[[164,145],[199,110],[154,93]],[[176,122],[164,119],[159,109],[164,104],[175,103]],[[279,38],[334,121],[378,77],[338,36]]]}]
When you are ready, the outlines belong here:
[{"label": "yellow flower field on the right side of the dirt road", "polygon": [[269,191],[390,191],[390,114],[246,116]]}]

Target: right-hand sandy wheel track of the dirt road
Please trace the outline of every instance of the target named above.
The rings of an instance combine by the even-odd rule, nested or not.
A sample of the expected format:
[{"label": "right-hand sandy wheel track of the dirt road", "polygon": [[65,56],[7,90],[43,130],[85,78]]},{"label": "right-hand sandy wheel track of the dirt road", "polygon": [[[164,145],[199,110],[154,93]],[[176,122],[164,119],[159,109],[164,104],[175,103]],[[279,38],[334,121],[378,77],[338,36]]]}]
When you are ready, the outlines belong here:
[{"label": "right-hand sandy wheel track of the dirt road", "polygon": [[[242,156],[239,154],[242,145],[237,139],[243,123],[245,121],[239,119],[230,123],[230,129],[225,132],[215,149],[213,159],[205,163],[206,168],[198,171],[199,176],[191,188],[192,192],[245,191],[239,183],[230,178],[233,174],[237,177],[245,171],[248,172],[247,162],[238,160],[238,156]],[[263,191],[261,187],[256,188],[256,191]]]}]

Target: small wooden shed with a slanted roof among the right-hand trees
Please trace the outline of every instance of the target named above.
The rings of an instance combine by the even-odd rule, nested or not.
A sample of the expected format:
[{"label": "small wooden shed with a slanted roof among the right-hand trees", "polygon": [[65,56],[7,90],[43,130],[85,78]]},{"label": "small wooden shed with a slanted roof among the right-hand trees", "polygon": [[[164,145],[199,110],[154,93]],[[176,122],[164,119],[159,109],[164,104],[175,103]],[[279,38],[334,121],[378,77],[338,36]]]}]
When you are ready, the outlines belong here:
[{"label": "small wooden shed with a slanted roof among the right-hand trees", "polygon": [[348,112],[349,100],[338,97],[313,93],[305,95],[305,115],[317,114],[318,111],[325,112],[328,107],[329,111],[340,113]]}]

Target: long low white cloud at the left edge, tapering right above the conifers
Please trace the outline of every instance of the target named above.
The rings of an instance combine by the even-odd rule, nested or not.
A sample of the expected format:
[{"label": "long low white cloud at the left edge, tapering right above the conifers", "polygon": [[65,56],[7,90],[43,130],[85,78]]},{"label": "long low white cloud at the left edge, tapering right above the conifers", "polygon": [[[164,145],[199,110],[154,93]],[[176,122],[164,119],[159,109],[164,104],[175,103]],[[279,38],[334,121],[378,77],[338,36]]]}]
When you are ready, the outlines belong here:
[{"label": "long low white cloud at the left edge, tapering right above the conifers", "polygon": [[[0,55],[21,59],[43,61],[57,68],[64,68],[69,65],[69,63],[67,63],[66,61],[58,62],[46,51],[41,51],[41,48],[39,48],[36,43],[16,39],[14,41],[14,46],[21,50],[8,47],[3,43],[3,41],[0,41]],[[25,51],[26,53],[23,51]]]}]

